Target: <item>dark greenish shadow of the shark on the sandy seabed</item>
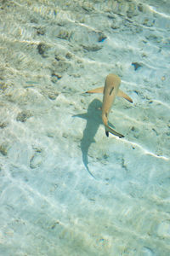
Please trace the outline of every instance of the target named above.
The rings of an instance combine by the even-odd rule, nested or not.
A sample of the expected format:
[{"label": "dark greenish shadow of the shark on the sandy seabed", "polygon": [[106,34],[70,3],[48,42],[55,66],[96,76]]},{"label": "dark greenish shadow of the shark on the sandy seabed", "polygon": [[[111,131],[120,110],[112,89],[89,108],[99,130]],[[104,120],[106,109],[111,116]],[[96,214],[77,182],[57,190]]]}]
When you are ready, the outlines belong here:
[{"label": "dark greenish shadow of the shark on the sandy seabed", "polygon": [[94,101],[89,104],[87,113],[73,115],[73,117],[79,117],[87,120],[86,128],[83,131],[83,137],[80,146],[82,150],[83,164],[87,168],[90,175],[93,177],[94,175],[92,174],[92,172],[90,172],[88,168],[88,148],[90,147],[91,143],[95,142],[94,136],[98,131],[99,125],[102,124],[101,110],[99,110],[99,108],[101,108],[101,105],[102,103],[99,100],[94,99]]}]

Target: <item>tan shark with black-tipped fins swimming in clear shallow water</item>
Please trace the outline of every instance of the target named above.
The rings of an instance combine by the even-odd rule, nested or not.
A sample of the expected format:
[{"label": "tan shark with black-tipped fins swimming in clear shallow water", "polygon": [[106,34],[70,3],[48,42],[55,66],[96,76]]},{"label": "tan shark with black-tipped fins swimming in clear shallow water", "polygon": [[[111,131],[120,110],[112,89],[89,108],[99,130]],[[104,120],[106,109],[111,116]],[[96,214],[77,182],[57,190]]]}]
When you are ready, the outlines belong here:
[{"label": "tan shark with black-tipped fins swimming in clear shallow water", "polygon": [[133,103],[133,100],[127,96],[122,90],[119,89],[121,84],[121,79],[116,74],[110,73],[105,78],[105,86],[99,87],[94,90],[88,90],[86,93],[103,93],[103,103],[102,103],[102,121],[105,125],[105,135],[109,137],[109,133],[115,135],[116,137],[124,137],[121,133],[116,132],[108,125],[109,113],[111,111],[111,106],[115,102],[116,96],[121,96],[125,98],[128,102]]}]

